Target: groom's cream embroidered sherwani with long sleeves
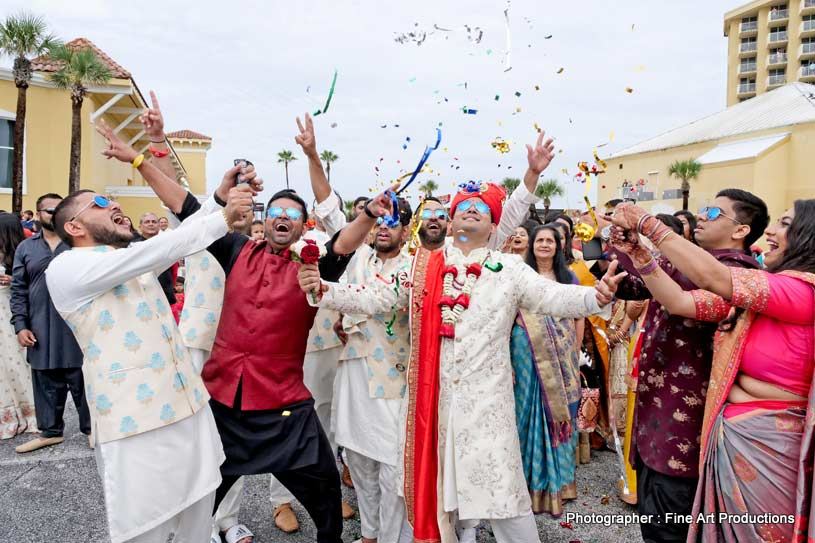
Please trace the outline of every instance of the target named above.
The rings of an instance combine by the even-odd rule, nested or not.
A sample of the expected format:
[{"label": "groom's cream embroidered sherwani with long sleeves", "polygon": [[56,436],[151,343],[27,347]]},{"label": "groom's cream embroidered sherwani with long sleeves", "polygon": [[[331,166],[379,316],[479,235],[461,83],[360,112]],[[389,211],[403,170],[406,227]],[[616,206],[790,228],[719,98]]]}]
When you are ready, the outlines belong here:
[{"label": "groom's cream embroidered sherwani with long sleeves", "polygon": [[[470,307],[456,324],[456,338],[442,339],[439,503],[447,513],[458,511],[462,520],[526,516],[531,502],[515,425],[509,357],[515,315],[520,308],[562,318],[608,311],[598,305],[594,289],[545,279],[517,255],[482,248],[465,256],[458,248],[447,247],[445,261],[458,268],[459,277],[473,262],[487,262],[497,271],[484,266]],[[410,294],[409,288],[394,289],[383,282],[365,289],[330,284],[319,304],[347,313],[377,314],[408,306]],[[408,395],[409,391],[410,387]],[[403,410],[402,441],[406,417]],[[452,523],[440,524],[443,539],[452,541]]]}]

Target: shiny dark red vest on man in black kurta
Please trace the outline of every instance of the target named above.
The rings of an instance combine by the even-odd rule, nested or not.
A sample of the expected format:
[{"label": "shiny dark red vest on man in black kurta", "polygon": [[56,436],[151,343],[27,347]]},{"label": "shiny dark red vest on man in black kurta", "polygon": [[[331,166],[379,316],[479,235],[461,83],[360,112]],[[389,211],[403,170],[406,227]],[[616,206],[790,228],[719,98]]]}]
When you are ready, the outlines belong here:
[{"label": "shiny dark red vest on man in black kurta", "polygon": [[238,383],[241,410],[280,409],[311,398],[303,358],[317,308],[297,282],[289,251],[244,245],[226,281],[212,356],[201,373],[217,402],[232,407]]}]

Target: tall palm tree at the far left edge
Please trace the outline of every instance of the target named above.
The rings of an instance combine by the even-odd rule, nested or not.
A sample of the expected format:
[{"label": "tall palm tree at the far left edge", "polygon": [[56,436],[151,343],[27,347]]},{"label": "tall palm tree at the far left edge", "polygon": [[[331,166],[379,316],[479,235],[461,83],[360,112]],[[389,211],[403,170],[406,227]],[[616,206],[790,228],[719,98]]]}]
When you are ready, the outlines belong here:
[{"label": "tall palm tree at the far left edge", "polygon": [[25,145],[26,92],[33,70],[31,58],[46,53],[59,41],[47,33],[45,19],[30,13],[9,15],[0,23],[0,55],[14,59],[14,85],[17,87],[17,116],[14,121],[14,154],[11,176],[11,210],[23,209],[23,146]]}]

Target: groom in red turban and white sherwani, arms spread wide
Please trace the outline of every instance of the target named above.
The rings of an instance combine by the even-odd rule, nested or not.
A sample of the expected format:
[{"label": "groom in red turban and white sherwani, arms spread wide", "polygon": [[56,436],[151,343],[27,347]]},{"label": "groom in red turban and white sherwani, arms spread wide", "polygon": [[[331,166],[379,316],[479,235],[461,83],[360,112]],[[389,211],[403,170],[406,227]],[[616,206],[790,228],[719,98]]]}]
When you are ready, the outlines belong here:
[{"label": "groom in red turban and white sherwani, arms spread wide", "polygon": [[324,284],[313,267],[300,273],[304,290],[322,294],[321,307],[410,309],[401,487],[420,541],[456,541],[456,520],[481,519],[499,542],[540,540],[515,426],[512,323],[521,307],[568,318],[608,313],[622,277],[612,264],[597,288],[561,285],[517,255],[488,249],[503,198],[496,185],[465,184],[451,206],[452,246],[419,250],[401,285]]}]

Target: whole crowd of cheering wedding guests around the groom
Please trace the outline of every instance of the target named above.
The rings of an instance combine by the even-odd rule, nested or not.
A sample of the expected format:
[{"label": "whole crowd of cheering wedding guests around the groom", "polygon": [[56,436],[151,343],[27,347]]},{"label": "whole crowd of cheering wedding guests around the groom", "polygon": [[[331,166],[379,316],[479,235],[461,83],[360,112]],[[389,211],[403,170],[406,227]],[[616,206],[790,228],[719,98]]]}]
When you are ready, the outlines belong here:
[{"label": "whole crowd of cheering wedding guests around the groom", "polygon": [[645,541],[815,537],[815,200],[772,224],[739,189],[698,215],[540,217],[541,133],[509,195],[391,189],[346,216],[306,115],[313,194],[257,218],[254,166],[199,202],[157,102],[141,120],[147,157],[100,123],[104,154],[167,217],[137,231],[87,190],[0,213],[0,437],[59,444],[70,391],[114,543],[251,543],[243,476],[266,473],[276,526],[298,530],[297,500],[318,542],[356,514],[341,484],[363,543],[471,543],[483,521],[539,542],[606,448]]}]

